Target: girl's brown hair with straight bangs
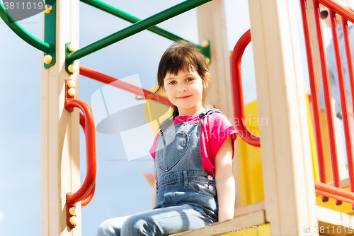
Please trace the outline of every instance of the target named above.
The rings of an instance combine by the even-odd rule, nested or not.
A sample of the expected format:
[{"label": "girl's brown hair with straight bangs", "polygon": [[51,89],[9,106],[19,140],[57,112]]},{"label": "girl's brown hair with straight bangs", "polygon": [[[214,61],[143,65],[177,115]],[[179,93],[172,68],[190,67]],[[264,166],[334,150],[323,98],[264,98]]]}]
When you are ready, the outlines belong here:
[{"label": "girl's brown hair with straight bangs", "polygon": [[[186,41],[177,41],[173,43],[162,55],[159,69],[157,69],[157,84],[159,88],[154,94],[164,89],[164,78],[166,74],[177,75],[179,71],[195,71],[198,72],[200,78],[202,78],[203,91],[202,91],[202,103],[205,102],[207,96],[208,77],[206,76],[209,72],[209,68],[204,61],[204,57],[192,43]],[[178,108],[173,106],[172,118],[174,119],[178,116]]]}]

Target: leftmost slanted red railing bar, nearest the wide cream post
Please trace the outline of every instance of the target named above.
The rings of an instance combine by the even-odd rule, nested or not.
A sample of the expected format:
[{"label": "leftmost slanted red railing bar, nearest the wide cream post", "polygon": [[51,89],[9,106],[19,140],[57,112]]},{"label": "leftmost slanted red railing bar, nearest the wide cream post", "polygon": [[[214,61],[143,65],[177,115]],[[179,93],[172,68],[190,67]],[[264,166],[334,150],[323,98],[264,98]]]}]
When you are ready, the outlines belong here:
[{"label": "leftmost slanted red railing bar, nearest the wide cream post", "polygon": [[[311,32],[309,28],[309,16],[307,13],[307,1],[300,0],[301,13],[302,13],[302,26],[304,28],[304,40],[306,45],[307,54],[307,67],[309,69],[309,84],[311,89],[312,99],[312,113],[314,116],[314,133],[316,137],[317,148],[317,160],[319,162],[319,179],[322,183],[327,182],[326,178],[326,164],[324,162],[324,140],[322,135],[322,125],[319,110],[319,96],[317,92],[317,81],[314,66],[314,51],[312,49]],[[322,201],[326,201],[328,198],[322,196]]]}]

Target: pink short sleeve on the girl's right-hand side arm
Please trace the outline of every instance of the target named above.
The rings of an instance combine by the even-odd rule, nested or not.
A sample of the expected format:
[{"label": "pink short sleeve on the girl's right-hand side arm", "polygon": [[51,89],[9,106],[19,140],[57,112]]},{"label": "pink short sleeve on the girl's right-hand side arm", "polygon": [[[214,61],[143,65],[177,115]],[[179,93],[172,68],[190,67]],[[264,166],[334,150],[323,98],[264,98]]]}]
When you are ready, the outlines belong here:
[{"label": "pink short sleeve on the girl's right-hand side arm", "polygon": [[[209,131],[209,142],[210,149],[212,152],[212,159],[215,159],[217,152],[219,151],[222,144],[227,140],[229,135],[232,135],[232,144],[237,137],[237,131],[234,126],[222,113],[213,113],[208,120],[208,131]],[[234,156],[232,156],[234,158]]]}]

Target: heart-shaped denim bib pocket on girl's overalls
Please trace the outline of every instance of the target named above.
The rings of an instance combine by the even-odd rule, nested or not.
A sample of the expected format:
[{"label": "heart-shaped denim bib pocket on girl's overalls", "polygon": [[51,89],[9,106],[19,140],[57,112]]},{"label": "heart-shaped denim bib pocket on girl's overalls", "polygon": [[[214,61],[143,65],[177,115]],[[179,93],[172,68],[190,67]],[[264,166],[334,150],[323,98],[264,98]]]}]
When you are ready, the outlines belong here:
[{"label": "heart-shaped denim bib pocket on girl's overalls", "polygon": [[168,172],[183,157],[189,145],[189,136],[185,132],[176,133],[169,137],[164,135],[157,148],[159,167]]}]

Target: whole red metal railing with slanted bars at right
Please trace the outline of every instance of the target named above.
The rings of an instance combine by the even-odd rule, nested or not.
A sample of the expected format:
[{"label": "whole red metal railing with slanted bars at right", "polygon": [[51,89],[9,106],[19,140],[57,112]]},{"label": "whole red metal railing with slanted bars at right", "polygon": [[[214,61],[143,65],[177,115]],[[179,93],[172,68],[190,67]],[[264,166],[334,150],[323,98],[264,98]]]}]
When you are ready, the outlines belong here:
[{"label": "whole red metal railing with slanted bars at right", "polygon": [[[333,112],[331,108],[331,91],[329,89],[329,74],[327,70],[327,62],[326,62],[326,53],[324,48],[324,40],[323,33],[321,28],[321,18],[320,18],[320,9],[319,4],[323,4],[329,9],[329,17],[331,20],[331,33],[333,38],[333,47],[336,55],[336,67],[338,72],[338,84],[341,95],[341,111],[343,113],[343,127],[344,127],[344,137],[346,140],[346,152],[347,152],[347,160],[348,160],[348,172],[349,172],[349,181],[350,181],[350,192],[344,191],[341,189],[341,179],[339,176],[339,168],[338,168],[338,157],[336,150],[336,137],[335,130],[333,125]],[[341,59],[341,49],[339,45],[338,38],[338,30],[336,23],[335,13],[341,16],[341,22],[343,27],[343,39],[346,45],[346,57],[348,62],[348,68],[350,73],[350,87],[353,90],[354,82],[353,82],[353,58],[351,55],[350,49],[350,40],[348,35],[348,20],[354,22],[354,13],[349,9],[341,6],[336,1],[333,0],[312,0],[312,5],[314,8],[314,21],[316,24],[316,38],[319,45],[319,54],[320,54],[320,62],[321,62],[321,74],[322,74],[322,82],[324,86],[324,98],[326,105],[326,118],[327,118],[327,127],[329,130],[329,143],[331,150],[331,163],[332,163],[332,174],[333,174],[333,186],[336,187],[336,190],[333,187],[326,184],[326,172],[324,171],[324,149],[323,149],[323,138],[321,136],[321,122],[317,118],[319,116],[319,101],[318,94],[316,93],[316,74],[314,69],[314,55],[312,51],[312,40],[309,30],[309,18],[307,14],[307,1],[300,0],[300,5],[302,9],[302,23],[304,28],[304,37],[305,44],[307,47],[307,63],[309,67],[309,79],[310,86],[312,91],[312,106],[313,106],[313,114],[314,114],[314,127],[316,130],[316,144],[318,150],[318,158],[319,158],[319,174],[320,181],[315,183],[316,193],[322,195],[322,200],[326,201],[326,197],[331,196],[336,199],[336,204],[341,205],[341,201],[346,201],[348,203],[353,204],[354,199],[354,175],[353,175],[353,148],[352,148],[352,140],[350,137],[350,126],[348,120],[348,106],[347,106],[347,97],[346,97],[346,86],[344,84],[344,76],[343,76],[343,64]],[[353,98],[352,98],[353,99]],[[354,100],[353,100],[354,101]],[[354,205],[352,205],[354,207]]]}]

